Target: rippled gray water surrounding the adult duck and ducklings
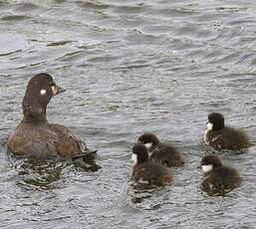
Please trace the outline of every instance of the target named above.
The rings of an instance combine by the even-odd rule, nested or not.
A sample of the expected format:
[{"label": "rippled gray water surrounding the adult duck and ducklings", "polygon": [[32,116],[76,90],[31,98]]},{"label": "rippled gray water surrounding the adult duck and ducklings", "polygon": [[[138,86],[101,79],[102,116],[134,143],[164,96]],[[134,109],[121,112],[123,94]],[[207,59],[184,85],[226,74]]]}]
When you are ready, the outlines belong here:
[{"label": "rippled gray water surrounding the adult duck and ducklings", "polygon": [[[1,0],[1,228],[256,228],[256,147],[216,152],[202,137],[220,112],[256,142],[254,0]],[[102,168],[10,157],[26,85],[47,72],[68,91],[48,119],[70,126]],[[180,147],[173,183],[140,188],[130,146],[143,131]],[[196,169],[213,151],[243,185],[212,196]]]}]

